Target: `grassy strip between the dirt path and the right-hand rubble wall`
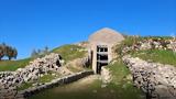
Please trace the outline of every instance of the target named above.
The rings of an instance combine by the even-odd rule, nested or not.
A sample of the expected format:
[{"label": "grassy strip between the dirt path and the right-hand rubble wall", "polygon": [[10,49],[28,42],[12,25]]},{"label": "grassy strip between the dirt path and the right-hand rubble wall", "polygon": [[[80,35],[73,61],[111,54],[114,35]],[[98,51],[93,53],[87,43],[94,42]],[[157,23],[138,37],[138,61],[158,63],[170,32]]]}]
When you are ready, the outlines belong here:
[{"label": "grassy strip between the dirt path and the right-hand rubble wall", "polygon": [[117,99],[144,99],[144,94],[133,86],[131,73],[121,59],[107,66],[111,72],[109,89],[117,92]]}]

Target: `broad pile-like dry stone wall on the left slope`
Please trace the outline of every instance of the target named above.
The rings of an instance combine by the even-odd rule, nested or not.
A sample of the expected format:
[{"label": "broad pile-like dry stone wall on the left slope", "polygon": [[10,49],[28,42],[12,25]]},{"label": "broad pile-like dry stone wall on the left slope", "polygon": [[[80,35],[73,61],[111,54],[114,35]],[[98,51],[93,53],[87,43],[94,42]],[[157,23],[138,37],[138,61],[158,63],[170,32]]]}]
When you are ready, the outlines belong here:
[{"label": "broad pile-like dry stone wall on the left slope", "polygon": [[16,94],[16,87],[22,82],[36,80],[40,75],[48,72],[57,72],[63,61],[59,54],[50,54],[31,62],[25,68],[15,72],[0,72],[0,99],[12,99]]}]

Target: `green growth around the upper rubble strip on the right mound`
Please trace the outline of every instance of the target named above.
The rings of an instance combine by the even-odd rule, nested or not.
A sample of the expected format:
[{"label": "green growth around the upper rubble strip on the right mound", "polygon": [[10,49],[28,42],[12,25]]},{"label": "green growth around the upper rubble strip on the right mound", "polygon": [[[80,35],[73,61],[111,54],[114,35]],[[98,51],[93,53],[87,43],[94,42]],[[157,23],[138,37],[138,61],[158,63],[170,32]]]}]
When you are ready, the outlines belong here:
[{"label": "green growth around the upper rubble strip on the right mound", "polygon": [[161,64],[168,64],[176,66],[176,53],[169,50],[141,50],[135,51],[131,48],[128,52],[123,52],[124,47],[131,47],[138,45],[139,42],[143,41],[160,41],[162,46],[166,46],[168,40],[173,40],[170,36],[128,36],[121,44],[116,46],[116,52],[118,53],[119,57],[121,58],[123,55],[132,55],[133,57],[140,57],[144,61],[161,63]]}]

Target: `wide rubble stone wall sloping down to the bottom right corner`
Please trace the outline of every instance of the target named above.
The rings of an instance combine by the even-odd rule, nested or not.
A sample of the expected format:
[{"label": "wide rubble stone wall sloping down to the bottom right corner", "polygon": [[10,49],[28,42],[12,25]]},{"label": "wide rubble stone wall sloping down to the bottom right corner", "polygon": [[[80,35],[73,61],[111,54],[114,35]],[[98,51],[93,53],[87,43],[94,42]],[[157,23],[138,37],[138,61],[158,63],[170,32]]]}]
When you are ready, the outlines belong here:
[{"label": "wide rubble stone wall sloping down to the bottom right corner", "polygon": [[123,57],[133,75],[133,81],[147,99],[176,99],[176,68],[170,65],[148,63],[130,55]]}]

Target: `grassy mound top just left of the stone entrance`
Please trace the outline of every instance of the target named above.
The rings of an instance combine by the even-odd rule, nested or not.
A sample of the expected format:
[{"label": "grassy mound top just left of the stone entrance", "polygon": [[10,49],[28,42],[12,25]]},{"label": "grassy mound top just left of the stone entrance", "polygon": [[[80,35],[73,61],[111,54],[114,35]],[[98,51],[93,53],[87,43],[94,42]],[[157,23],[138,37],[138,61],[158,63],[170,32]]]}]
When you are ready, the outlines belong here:
[{"label": "grassy mound top just left of the stone entrance", "polygon": [[73,61],[75,58],[81,58],[85,56],[86,51],[79,51],[84,50],[81,46],[78,45],[64,45],[57,48],[54,48],[53,53],[58,53],[66,61]]}]

